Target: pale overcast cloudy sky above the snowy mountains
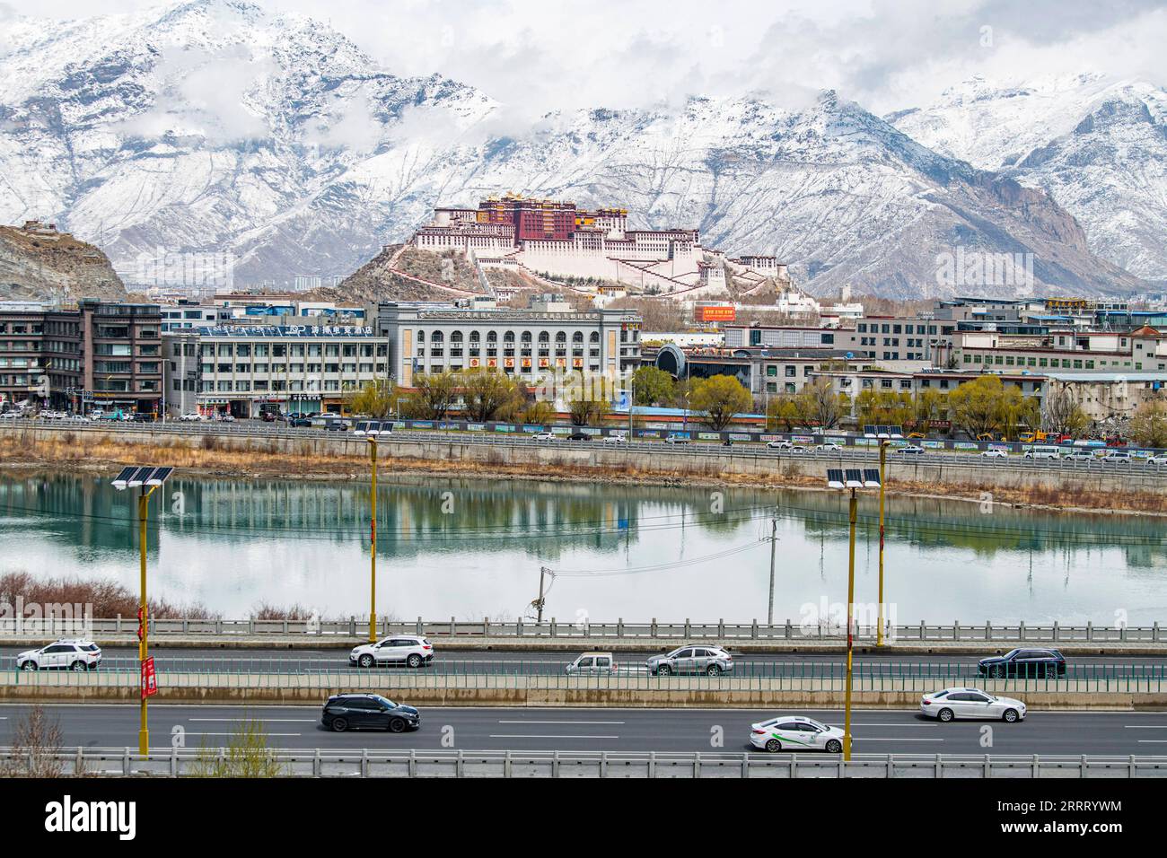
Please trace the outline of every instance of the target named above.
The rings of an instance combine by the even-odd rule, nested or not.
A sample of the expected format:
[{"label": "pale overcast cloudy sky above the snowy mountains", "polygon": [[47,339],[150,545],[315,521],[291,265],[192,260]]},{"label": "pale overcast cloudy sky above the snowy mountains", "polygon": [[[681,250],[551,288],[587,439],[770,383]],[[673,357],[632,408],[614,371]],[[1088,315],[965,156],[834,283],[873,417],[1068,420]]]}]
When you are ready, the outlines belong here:
[{"label": "pale overcast cloudy sky above the snowy mountains", "polygon": [[[158,5],[57,0],[41,8],[83,18]],[[1167,0],[259,5],[330,23],[394,74],[442,74],[534,113],[747,92],[801,103],[822,89],[883,113],[928,104],[977,74],[1023,81],[1104,71],[1167,83]],[[4,12],[0,0],[0,28]]]}]

